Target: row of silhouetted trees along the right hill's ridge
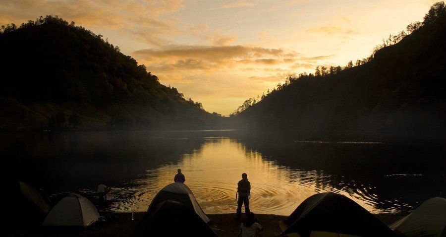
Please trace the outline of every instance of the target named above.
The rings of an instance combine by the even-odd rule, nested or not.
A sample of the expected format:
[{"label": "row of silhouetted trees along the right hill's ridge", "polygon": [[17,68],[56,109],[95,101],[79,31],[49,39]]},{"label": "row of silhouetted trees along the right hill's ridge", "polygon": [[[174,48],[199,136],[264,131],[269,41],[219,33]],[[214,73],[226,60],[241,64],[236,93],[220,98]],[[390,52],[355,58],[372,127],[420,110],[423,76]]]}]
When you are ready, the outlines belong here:
[{"label": "row of silhouetted trees along the right hill's ridge", "polygon": [[355,62],[350,60],[343,67],[340,65],[330,66],[330,67],[325,66],[325,65],[318,65],[318,66],[316,66],[314,73],[304,72],[304,73],[299,73],[299,75],[297,75],[295,77],[289,76],[288,78],[285,78],[285,81],[283,84],[279,83],[272,90],[268,89],[266,93],[262,94],[262,96],[257,95],[257,97],[253,97],[253,98],[249,98],[249,99],[245,100],[242,105],[240,105],[232,114],[230,114],[230,117],[240,114],[244,110],[246,110],[249,107],[253,106],[254,104],[264,100],[269,95],[282,90],[283,88],[289,86],[290,84],[294,83],[295,81],[298,81],[301,79],[318,79],[318,78],[323,78],[323,77],[327,77],[327,76],[333,76],[342,70],[347,70],[347,69],[355,67],[355,66],[364,65],[365,63],[372,61],[375,57],[375,54],[379,50],[397,44],[407,35],[411,34],[412,32],[416,31],[417,29],[419,29],[422,26],[432,24],[437,19],[442,17],[444,14],[445,14],[445,2],[444,1],[437,2],[431,6],[429,12],[424,16],[423,22],[416,21],[416,22],[413,22],[413,23],[410,23],[409,25],[407,25],[407,27],[406,27],[407,33],[405,30],[402,30],[395,35],[390,34],[388,38],[383,39],[382,44],[379,44],[373,48],[372,54],[369,57],[364,58],[364,59],[357,59]]}]

